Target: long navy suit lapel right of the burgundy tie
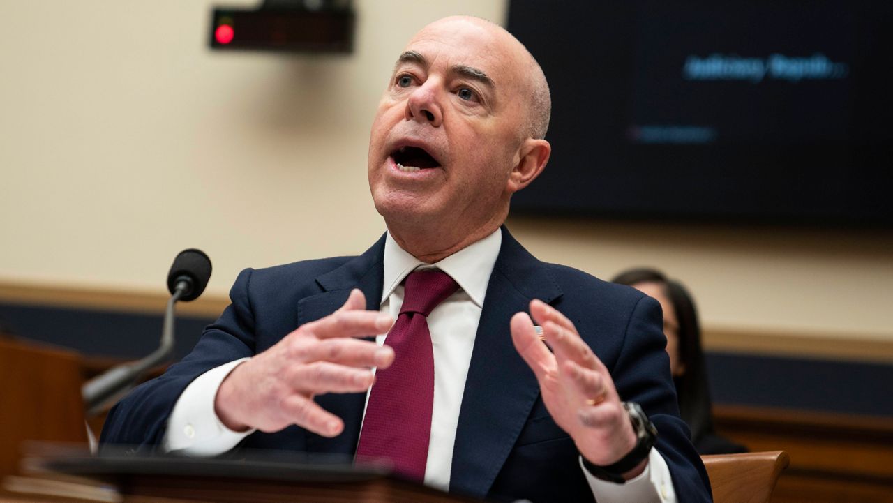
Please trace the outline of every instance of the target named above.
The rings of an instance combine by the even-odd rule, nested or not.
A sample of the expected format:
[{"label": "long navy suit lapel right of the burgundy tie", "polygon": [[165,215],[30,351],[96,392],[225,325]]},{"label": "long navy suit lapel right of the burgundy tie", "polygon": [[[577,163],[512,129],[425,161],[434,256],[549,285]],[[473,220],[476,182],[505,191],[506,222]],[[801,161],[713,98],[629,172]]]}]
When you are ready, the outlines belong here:
[{"label": "long navy suit lapel right of the burgundy tie", "polygon": [[539,395],[530,367],[515,351],[509,321],[530,300],[561,296],[555,280],[503,227],[487,287],[456,430],[450,490],[487,494]]}]

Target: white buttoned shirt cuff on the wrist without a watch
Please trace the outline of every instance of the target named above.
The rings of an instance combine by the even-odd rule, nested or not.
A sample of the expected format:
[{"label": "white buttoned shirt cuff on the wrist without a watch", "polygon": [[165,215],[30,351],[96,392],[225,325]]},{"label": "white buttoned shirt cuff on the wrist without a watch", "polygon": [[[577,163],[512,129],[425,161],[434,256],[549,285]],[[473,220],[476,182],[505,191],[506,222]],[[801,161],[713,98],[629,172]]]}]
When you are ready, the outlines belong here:
[{"label": "white buttoned shirt cuff on the wrist without a watch", "polygon": [[165,452],[176,451],[187,456],[217,456],[236,447],[238,442],[255,432],[233,432],[214,412],[217,390],[232,369],[246,361],[241,358],[214,367],[187,386],[177,398],[164,435]]}]

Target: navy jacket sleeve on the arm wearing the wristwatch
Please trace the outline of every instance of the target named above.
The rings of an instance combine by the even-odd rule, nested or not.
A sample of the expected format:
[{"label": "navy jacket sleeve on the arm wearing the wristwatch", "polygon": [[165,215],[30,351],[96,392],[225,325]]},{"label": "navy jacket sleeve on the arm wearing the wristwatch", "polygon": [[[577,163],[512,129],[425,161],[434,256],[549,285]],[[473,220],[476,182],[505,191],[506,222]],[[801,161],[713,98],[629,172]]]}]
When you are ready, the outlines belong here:
[{"label": "navy jacket sleeve on the arm wearing the wristwatch", "polygon": [[689,440],[689,427],[680,419],[661,327],[660,305],[653,298],[641,298],[611,369],[614,385],[622,400],[637,402],[655,423],[655,448],[670,469],[680,501],[711,501],[704,464]]}]

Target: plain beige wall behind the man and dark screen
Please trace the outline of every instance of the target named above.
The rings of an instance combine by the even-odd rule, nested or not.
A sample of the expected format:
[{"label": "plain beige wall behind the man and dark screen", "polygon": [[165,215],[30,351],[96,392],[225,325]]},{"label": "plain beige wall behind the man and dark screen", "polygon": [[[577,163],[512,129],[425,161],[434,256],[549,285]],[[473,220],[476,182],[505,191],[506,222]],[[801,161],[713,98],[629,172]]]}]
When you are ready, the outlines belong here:
[{"label": "plain beige wall behind the man and dark screen", "polygon": [[[212,4],[238,2],[4,2],[0,282],[163,292],[201,247],[221,296],[245,266],[362,251],[383,231],[364,170],[396,54],[450,13],[505,19],[501,0],[366,0],[354,54],[221,54]],[[511,224],[603,277],[662,266],[708,326],[893,340],[889,232]]]}]

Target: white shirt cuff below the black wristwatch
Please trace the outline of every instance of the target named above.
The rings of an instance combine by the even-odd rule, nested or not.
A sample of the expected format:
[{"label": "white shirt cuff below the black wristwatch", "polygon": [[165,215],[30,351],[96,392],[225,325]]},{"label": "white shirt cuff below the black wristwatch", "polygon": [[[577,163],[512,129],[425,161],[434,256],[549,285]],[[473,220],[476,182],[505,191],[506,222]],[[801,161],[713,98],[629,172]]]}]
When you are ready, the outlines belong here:
[{"label": "white shirt cuff below the black wristwatch", "polygon": [[677,503],[676,490],[672,487],[672,476],[667,462],[651,448],[648,452],[648,464],[645,471],[626,483],[614,483],[597,479],[583,467],[580,457],[580,469],[586,475],[589,488],[598,503],[623,503],[641,501],[642,503]]}]

